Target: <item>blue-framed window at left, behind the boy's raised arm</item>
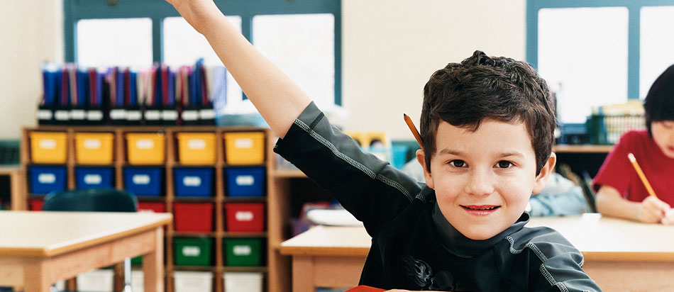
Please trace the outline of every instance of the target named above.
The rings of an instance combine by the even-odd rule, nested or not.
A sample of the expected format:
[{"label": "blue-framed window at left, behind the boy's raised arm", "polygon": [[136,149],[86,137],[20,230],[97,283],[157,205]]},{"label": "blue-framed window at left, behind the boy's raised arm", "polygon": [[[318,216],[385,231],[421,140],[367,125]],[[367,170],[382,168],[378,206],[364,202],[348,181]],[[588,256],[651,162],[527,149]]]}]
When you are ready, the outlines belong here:
[{"label": "blue-framed window at left, behind the boy's raised arm", "polygon": [[[67,62],[179,66],[203,57],[207,66],[221,65],[205,38],[165,1],[63,2]],[[312,99],[341,105],[341,0],[215,2]],[[243,94],[231,75],[227,84],[227,100],[241,101]]]}]

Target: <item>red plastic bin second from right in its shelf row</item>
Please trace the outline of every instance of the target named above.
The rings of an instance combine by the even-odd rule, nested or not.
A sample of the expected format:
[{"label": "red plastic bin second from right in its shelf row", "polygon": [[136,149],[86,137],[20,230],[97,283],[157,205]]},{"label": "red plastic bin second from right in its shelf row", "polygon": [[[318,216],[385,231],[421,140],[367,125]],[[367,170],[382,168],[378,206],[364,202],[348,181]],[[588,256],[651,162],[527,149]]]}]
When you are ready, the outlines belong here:
[{"label": "red plastic bin second from right in its shelf row", "polygon": [[213,231],[213,203],[173,203],[175,231]]}]

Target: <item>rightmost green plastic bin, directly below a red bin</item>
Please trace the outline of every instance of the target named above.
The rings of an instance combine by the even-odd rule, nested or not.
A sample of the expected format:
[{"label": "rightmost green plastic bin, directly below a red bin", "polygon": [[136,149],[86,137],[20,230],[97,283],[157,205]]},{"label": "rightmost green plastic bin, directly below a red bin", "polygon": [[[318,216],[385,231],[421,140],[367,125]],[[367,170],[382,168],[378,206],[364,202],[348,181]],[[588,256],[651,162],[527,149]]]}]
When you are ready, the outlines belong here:
[{"label": "rightmost green plastic bin, directly below a red bin", "polygon": [[262,266],[261,238],[227,238],[224,249],[227,266]]}]

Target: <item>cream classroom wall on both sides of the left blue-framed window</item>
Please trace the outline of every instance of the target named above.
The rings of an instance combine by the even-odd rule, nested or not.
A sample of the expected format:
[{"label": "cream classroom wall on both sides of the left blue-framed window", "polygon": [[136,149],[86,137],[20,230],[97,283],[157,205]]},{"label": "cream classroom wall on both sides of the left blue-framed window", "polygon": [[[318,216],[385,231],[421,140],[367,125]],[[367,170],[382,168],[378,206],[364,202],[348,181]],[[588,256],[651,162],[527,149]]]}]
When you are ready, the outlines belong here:
[{"label": "cream classroom wall on both sides of the left blue-framed window", "polygon": [[[479,49],[525,57],[525,0],[342,0],[346,128],[411,140],[421,93],[436,70]],[[62,0],[7,1],[0,9],[0,139],[35,125],[40,64],[62,62]]]}]

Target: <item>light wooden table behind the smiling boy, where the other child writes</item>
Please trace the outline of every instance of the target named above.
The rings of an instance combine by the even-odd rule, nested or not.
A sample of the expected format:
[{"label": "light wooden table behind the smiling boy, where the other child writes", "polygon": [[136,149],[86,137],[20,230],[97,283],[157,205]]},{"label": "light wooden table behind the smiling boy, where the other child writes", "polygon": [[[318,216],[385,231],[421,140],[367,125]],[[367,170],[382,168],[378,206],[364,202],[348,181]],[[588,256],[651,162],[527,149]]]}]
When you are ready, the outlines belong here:
[{"label": "light wooden table behind the smiling boy, where the other child writes", "polygon": [[[583,269],[604,292],[674,291],[674,226],[600,214],[532,218],[526,226],[561,232],[582,252]],[[292,256],[292,291],[358,285],[370,241],[362,227],[325,226],[286,240],[280,252]]]}]

